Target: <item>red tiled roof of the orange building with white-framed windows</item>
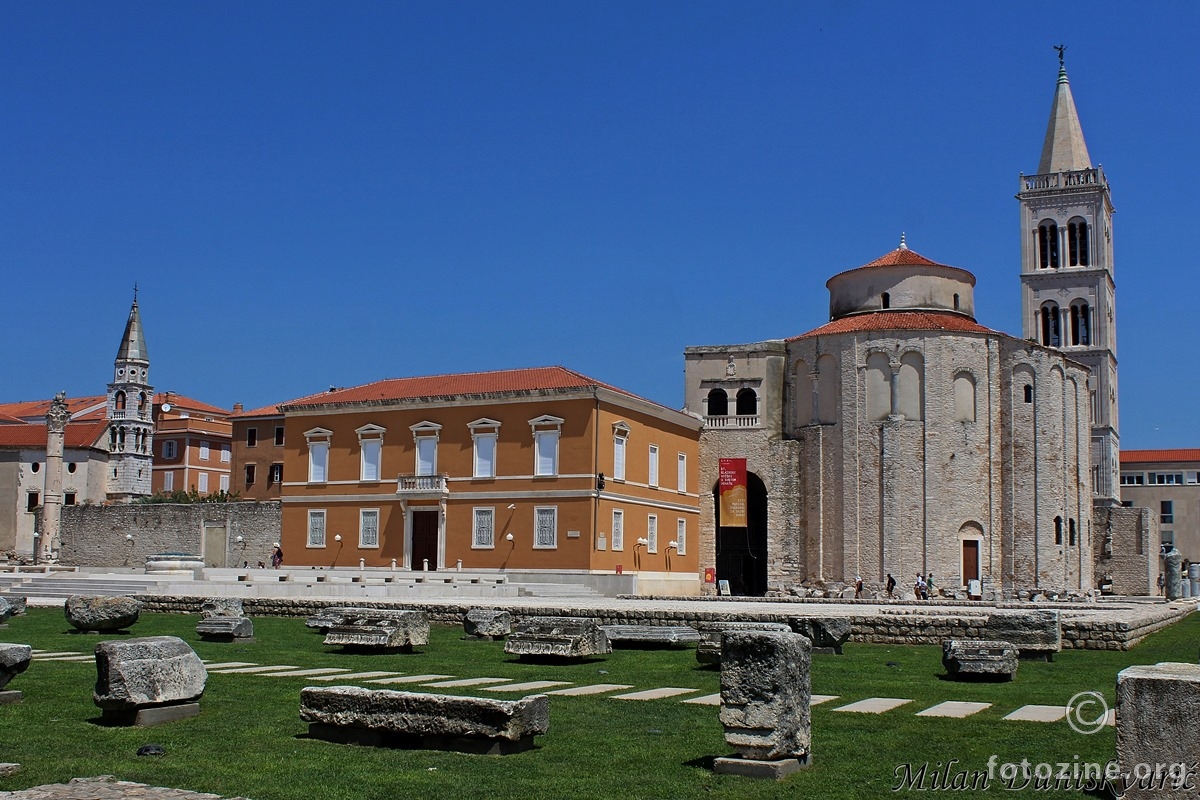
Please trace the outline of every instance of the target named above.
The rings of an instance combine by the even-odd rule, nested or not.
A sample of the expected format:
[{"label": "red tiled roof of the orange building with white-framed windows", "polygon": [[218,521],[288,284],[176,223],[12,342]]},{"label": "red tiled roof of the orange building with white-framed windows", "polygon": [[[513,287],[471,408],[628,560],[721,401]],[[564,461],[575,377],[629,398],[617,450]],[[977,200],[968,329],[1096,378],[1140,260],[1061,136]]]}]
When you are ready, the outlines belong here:
[{"label": "red tiled roof of the orange building with white-framed windows", "polygon": [[532,367],[528,369],[466,372],[424,378],[390,378],[352,389],[338,389],[320,395],[311,395],[298,401],[292,401],[290,403],[283,403],[282,405],[284,409],[289,409],[342,403],[461,397],[464,395],[509,395],[570,389],[608,389],[628,397],[637,397],[623,389],[617,389],[565,367]]}]

